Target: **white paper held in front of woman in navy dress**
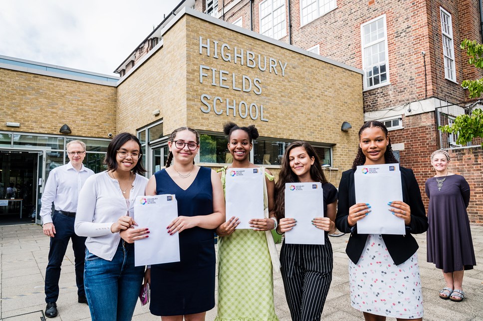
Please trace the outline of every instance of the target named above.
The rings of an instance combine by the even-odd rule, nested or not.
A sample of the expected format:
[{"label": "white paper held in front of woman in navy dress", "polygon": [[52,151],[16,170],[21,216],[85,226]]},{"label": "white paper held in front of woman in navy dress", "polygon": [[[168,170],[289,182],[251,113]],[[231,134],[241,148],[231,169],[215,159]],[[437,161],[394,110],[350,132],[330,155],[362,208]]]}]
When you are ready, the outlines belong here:
[{"label": "white paper held in front of woman in navy dress", "polygon": [[168,234],[166,226],[178,217],[174,195],[138,196],[134,220],[149,228],[149,237],[134,242],[134,266],[180,261],[179,234]]}]

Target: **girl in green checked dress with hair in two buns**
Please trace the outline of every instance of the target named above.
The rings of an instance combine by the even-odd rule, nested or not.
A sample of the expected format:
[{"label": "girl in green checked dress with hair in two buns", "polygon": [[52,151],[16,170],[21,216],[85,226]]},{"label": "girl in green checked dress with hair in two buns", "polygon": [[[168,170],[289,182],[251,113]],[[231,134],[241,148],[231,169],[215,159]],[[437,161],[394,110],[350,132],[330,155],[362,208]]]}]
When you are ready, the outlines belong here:
[{"label": "girl in green checked dress with hair in two buns", "polygon": [[[258,167],[249,161],[252,141],[258,137],[254,125],[239,127],[233,122],[224,126],[233,163],[219,170],[225,188],[227,168]],[[216,321],[278,321],[273,304],[272,259],[278,265],[276,253],[270,253],[273,243],[270,230],[276,227],[272,213],[273,176],[265,169],[265,204],[269,217],[253,218],[253,229],[236,229],[240,220],[230,217],[217,228],[218,241],[218,315]],[[240,200],[242,206],[249,200]],[[266,232],[268,231],[268,232]],[[270,255],[272,254],[272,255]],[[276,266],[277,267],[277,266]]]}]

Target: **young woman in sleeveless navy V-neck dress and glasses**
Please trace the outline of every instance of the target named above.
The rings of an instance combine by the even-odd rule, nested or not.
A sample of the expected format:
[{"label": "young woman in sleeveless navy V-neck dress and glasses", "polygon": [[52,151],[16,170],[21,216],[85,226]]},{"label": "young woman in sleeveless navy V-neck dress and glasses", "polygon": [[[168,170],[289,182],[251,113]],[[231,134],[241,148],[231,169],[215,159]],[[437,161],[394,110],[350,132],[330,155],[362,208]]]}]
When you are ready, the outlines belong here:
[{"label": "young woman in sleeveless navy V-neck dress and glasses", "polygon": [[166,168],[150,178],[146,195],[176,196],[178,217],[166,231],[180,233],[180,262],[152,265],[146,271],[150,310],[163,321],[202,321],[215,307],[214,230],[225,221],[223,187],[215,171],[194,164],[200,148],[196,130],[176,129],[168,146]]}]

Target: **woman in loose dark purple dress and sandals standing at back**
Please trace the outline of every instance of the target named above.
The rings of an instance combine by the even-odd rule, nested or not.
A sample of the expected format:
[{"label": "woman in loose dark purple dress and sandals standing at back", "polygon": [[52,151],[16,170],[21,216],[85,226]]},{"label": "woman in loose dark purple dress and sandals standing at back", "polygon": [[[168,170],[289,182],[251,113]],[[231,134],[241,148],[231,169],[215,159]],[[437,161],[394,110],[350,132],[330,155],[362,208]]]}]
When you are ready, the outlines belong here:
[{"label": "woman in loose dark purple dress and sandals standing at back", "polygon": [[431,155],[436,175],[426,181],[429,197],[428,262],[443,270],[446,287],[441,299],[460,302],[463,292],[463,273],[476,265],[471,238],[470,220],[466,211],[470,203],[470,185],[461,175],[450,173],[450,155],[437,150]]}]

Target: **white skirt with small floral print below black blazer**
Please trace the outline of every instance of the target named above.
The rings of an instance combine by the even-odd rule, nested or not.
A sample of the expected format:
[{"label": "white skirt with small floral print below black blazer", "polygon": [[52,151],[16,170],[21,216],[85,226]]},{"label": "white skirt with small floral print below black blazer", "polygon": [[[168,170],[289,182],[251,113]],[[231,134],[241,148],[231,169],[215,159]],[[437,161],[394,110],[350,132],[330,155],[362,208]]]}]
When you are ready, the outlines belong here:
[{"label": "white skirt with small floral print below black blazer", "polygon": [[351,305],[378,316],[423,317],[418,254],[394,264],[381,234],[369,234],[357,264],[349,260]]}]

